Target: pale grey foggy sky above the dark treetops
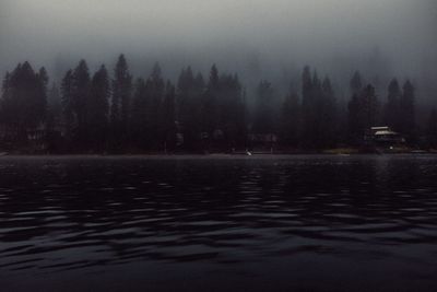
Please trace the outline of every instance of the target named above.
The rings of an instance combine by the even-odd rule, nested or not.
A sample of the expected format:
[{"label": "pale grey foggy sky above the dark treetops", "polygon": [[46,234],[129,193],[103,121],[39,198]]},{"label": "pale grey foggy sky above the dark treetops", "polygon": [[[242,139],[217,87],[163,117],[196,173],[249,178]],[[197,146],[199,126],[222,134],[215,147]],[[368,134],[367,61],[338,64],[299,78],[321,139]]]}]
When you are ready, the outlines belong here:
[{"label": "pale grey foggy sky above the dark treetops", "polygon": [[215,62],[248,86],[286,86],[309,65],[339,91],[361,70],[382,87],[410,78],[429,101],[436,27],[434,0],[2,0],[0,70],[29,60],[57,80],[80,58],[94,70],[123,52],[137,75],[155,61],[173,79],[184,66],[208,73]]}]

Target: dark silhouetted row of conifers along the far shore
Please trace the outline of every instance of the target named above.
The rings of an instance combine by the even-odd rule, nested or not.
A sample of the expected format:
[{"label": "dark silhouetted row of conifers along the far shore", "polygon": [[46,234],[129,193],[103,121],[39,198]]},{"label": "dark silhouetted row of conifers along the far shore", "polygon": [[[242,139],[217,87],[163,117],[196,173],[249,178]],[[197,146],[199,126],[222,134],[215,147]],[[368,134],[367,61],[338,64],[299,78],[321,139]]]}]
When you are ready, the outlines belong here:
[{"label": "dark silhouetted row of conifers along the far shore", "polygon": [[[436,147],[437,113],[415,122],[415,89],[393,79],[379,97],[359,72],[350,98],[335,95],[329,77],[305,67],[286,96],[261,81],[248,103],[237,74],[212,66],[206,78],[184,68],[176,84],[156,63],[147,78],[133,79],[120,55],[109,74],[103,65],[91,73],[85,60],[48,86],[44,68],[17,65],[3,79],[0,136],[11,148],[32,140],[49,152],[231,152],[257,147],[322,150],[359,145],[373,126],[387,125],[411,145]],[[38,137],[39,135],[39,137]]]}]

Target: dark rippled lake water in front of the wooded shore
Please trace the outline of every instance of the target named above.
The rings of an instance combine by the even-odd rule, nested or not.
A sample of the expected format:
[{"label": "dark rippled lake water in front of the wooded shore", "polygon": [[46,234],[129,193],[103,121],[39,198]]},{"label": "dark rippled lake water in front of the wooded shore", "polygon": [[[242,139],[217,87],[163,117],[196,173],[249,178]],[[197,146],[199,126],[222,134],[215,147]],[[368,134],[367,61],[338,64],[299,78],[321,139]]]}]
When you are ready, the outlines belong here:
[{"label": "dark rippled lake water in front of the wooded shore", "polygon": [[437,291],[437,156],[1,157],[0,291]]}]

